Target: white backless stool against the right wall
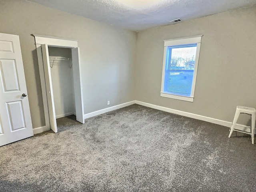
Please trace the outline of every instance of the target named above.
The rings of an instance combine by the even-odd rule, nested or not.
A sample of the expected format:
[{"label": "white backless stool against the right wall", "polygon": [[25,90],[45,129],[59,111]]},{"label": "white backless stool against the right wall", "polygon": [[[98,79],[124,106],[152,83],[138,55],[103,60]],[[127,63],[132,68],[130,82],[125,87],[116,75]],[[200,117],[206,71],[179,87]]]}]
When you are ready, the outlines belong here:
[{"label": "white backless stool against the right wall", "polygon": [[[236,126],[236,122],[238,120],[238,116],[240,115],[240,113],[245,113],[245,114],[248,114],[248,115],[252,116],[252,126],[250,127],[251,128],[250,133],[234,129],[234,127]],[[255,120],[256,120],[256,109],[254,109],[252,107],[236,106],[236,113],[235,113],[234,120],[233,120],[231,128],[230,128],[230,133],[229,133],[228,138],[230,138],[233,131],[238,131],[238,132],[250,134],[252,136],[252,144],[254,144]],[[248,126],[244,126],[244,127],[248,127]]]}]

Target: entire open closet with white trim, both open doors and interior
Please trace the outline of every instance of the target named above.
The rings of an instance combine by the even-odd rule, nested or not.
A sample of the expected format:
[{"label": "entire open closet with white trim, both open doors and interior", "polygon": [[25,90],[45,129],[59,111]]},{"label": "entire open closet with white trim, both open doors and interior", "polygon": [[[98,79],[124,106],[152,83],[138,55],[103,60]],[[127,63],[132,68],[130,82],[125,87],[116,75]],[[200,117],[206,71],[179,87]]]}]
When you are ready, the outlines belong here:
[{"label": "entire open closet with white trim, both open doors and interior", "polygon": [[78,42],[51,36],[33,36],[36,42],[46,124],[34,134],[50,129],[58,132],[56,119],[65,116],[75,115],[76,121],[84,124]]}]

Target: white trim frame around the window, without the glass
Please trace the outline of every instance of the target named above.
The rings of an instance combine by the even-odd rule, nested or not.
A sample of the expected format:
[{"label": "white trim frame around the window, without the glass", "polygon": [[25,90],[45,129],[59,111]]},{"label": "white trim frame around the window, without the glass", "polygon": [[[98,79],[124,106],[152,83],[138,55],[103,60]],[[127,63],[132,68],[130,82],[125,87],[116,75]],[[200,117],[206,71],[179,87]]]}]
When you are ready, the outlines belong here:
[{"label": "white trim frame around the window, without the glass", "polygon": [[[196,86],[196,74],[197,74],[197,68],[198,68],[198,60],[199,60],[202,36],[203,35],[164,40],[164,61],[163,61],[163,70],[162,70],[162,86],[161,86],[161,92],[160,92],[161,97],[167,97],[167,98],[178,99],[178,100],[189,101],[189,102],[194,101],[194,92],[195,92],[195,86]],[[180,95],[166,93],[166,92],[164,92],[164,75],[165,75],[167,48],[170,46],[182,46],[182,45],[189,45],[189,44],[197,44],[191,95],[188,97],[188,96],[180,96]]]}]

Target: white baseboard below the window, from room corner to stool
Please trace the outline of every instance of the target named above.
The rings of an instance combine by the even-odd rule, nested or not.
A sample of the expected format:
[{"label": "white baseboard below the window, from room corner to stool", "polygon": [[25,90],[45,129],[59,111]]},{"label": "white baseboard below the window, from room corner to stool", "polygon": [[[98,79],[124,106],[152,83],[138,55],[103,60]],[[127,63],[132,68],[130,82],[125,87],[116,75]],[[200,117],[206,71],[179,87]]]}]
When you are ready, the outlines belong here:
[{"label": "white baseboard below the window, from room corner to stool", "polygon": [[206,117],[206,116],[202,116],[202,115],[197,115],[197,114],[188,113],[188,112],[184,112],[184,111],[180,111],[180,110],[175,110],[175,109],[171,109],[171,108],[167,108],[167,107],[153,105],[153,104],[149,104],[149,103],[145,103],[145,102],[141,102],[141,101],[135,101],[135,103],[142,105],[142,106],[150,107],[153,109],[158,109],[161,111],[174,113],[177,115],[182,115],[185,117],[190,117],[190,118],[194,118],[194,119],[198,119],[198,120],[202,120],[202,121],[206,121],[206,122],[210,122],[210,123],[214,123],[214,124],[218,124],[218,125],[222,125],[222,126],[226,126],[226,127],[230,127],[232,124],[231,122],[228,122],[228,121],[223,121],[223,120],[214,119],[214,118],[210,118],[210,117]]}]

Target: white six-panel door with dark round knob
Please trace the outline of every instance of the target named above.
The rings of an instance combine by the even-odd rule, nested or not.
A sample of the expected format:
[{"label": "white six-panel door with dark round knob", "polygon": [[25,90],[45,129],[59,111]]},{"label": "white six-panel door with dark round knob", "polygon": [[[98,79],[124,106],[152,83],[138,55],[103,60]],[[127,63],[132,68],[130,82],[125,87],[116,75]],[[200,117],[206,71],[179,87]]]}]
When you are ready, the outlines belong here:
[{"label": "white six-panel door with dark round knob", "polygon": [[0,33],[0,146],[33,136],[18,35]]}]

